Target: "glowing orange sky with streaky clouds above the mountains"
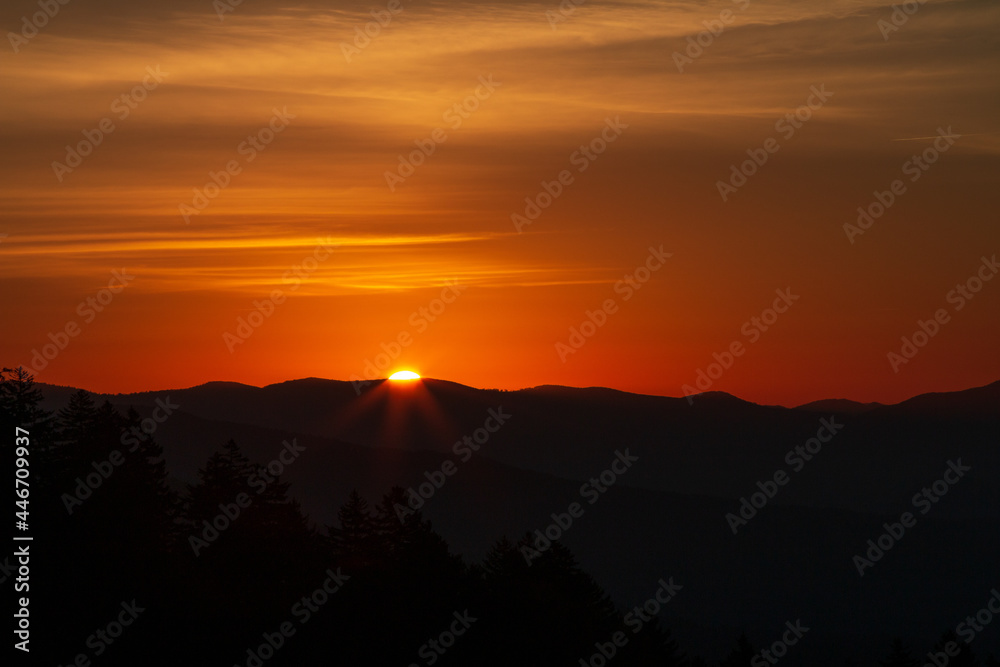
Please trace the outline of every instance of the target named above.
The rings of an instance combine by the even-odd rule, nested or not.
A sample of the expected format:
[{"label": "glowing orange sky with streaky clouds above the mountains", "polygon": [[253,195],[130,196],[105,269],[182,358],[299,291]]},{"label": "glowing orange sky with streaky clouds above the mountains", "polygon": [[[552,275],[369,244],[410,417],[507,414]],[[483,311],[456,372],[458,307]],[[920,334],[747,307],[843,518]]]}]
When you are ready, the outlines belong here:
[{"label": "glowing orange sky with streaky clouds above the mountains", "polygon": [[4,3],[0,365],[1000,379],[996,2],[161,5]]}]

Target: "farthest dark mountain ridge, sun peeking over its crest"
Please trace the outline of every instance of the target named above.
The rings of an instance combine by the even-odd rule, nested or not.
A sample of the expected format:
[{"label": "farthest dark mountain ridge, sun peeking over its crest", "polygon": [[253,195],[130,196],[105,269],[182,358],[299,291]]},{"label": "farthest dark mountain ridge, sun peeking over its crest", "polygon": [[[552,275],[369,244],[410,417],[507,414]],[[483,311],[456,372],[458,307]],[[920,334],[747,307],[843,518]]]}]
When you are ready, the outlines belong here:
[{"label": "farthest dark mountain ridge, sun peeking over its crest", "polygon": [[[71,390],[46,392],[55,406]],[[316,378],[263,388],[213,382],[105,398],[121,406],[169,398],[181,411],[212,421],[439,453],[452,452],[483,428],[491,410],[502,409],[510,418],[478,453],[509,466],[588,479],[616,449],[628,447],[643,461],[630,472],[629,486],[739,498],[780,468],[807,481],[790,484],[775,502],[855,511],[892,510],[914,483],[949,458],[965,456],[977,462],[973,485],[1000,501],[997,487],[986,482],[987,473],[998,470],[991,425],[1000,419],[1000,382],[866,409],[842,401],[761,406],[720,392],[689,404],[604,388],[480,390],[440,380],[374,383],[359,396],[351,383]],[[821,420],[830,418],[843,424],[833,441],[817,454],[796,453],[825,433]],[[1000,502],[987,511],[1000,514]]]}]

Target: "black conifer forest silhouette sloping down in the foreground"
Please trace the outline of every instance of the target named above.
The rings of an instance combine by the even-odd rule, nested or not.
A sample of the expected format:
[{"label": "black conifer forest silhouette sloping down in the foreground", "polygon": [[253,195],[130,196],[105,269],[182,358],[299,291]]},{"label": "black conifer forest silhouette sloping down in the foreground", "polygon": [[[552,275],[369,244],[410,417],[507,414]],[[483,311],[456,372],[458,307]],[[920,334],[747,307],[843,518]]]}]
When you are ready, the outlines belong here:
[{"label": "black conifer forest silhouette sloping down in the foreground", "polygon": [[[85,391],[55,413],[42,401],[29,373],[3,370],[4,432],[24,428],[32,442],[39,664],[81,654],[102,665],[709,664],[686,655],[659,619],[626,628],[623,610],[559,542],[529,560],[530,535],[497,536],[485,558],[467,562],[399,487],[374,504],[354,491],[334,525],[315,526],[280,478],[248,483],[263,469],[232,440],[178,488],[154,437],[125,437],[141,432],[135,410]],[[3,441],[5,465],[12,443]],[[115,452],[120,464],[106,463]],[[760,648],[734,637],[718,665],[756,664]],[[923,660],[897,640],[867,664]],[[1000,663],[962,645],[948,664]]]}]

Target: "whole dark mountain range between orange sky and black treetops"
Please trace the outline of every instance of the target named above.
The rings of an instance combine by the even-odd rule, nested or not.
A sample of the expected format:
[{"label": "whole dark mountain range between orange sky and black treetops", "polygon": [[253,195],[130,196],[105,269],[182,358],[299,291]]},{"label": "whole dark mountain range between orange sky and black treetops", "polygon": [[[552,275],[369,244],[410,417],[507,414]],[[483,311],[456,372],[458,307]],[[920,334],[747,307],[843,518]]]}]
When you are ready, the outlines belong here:
[{"label": "whole dark mountain range between orange sky and black treetops", "polygon": [[[74,391],[42,388],[51,409]],[[261,463],[295,438],[305,451],[283,478],[314,521],[332,523],[351,488],[374,500],[423,485],[423,511],[470,557],[580,503],[560,539],[628,608],[661,577],[683,584],[665,614],[709,657],[742,630],[770,643],[799,617],[813,630],[805,662],[789,664],[843,664],[883,652],[893,635],[922,646],[1000,584],[1000,382],[897,405],[791,409],[717,392],[689,404],[440,380],[358,395],[316,378],[101,398],[144,416],[176,406],[154,435],[178,483],[229,438]],[[907,511],[916,526],[859,576],[854,556]],[[976,644],[1000,651],[1000,635]]]}]

